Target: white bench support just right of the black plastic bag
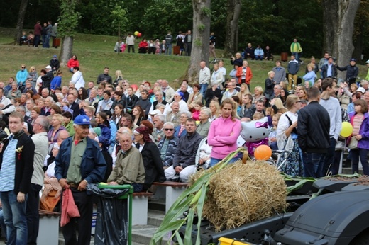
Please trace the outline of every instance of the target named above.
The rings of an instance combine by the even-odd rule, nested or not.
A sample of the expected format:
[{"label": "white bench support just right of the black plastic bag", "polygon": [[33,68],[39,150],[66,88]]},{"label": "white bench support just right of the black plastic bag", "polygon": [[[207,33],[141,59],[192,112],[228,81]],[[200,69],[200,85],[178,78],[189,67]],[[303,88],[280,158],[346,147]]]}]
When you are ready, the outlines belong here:
[{"label": "white bench support just right of the black plastic bag", "polygon": [[148,224],[148,198],[153,193],[133,193],[132,225]]}]

